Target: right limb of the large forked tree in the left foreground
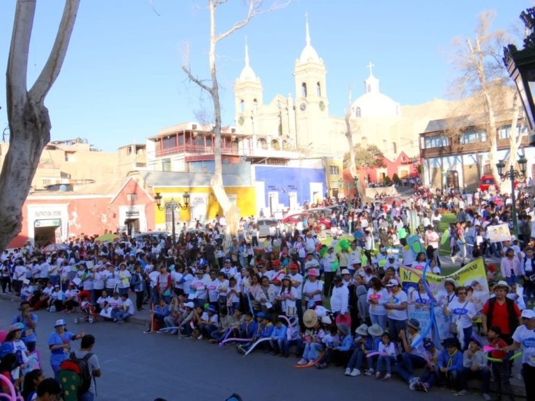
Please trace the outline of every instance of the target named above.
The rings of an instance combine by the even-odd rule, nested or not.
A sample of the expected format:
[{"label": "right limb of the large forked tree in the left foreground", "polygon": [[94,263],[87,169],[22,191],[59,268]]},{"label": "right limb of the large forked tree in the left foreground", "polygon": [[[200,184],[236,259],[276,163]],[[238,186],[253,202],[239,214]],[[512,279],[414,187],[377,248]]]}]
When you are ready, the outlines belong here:
[{"label": "right limb of the large forked tree in the left foreground", "polygon": [[30,97],[37,103],[42,103],[59,75],[63,61],[65,61],[65,55],[67,54],[67,48],[69,46],[70,36],[72,35],[72,29],[75,26],[79,5],[80,0],[65,0],[63,16],[61,17],[52,52],[50,52],[45,68],[42,69],[36,83],[33,84],[29,92]]}]

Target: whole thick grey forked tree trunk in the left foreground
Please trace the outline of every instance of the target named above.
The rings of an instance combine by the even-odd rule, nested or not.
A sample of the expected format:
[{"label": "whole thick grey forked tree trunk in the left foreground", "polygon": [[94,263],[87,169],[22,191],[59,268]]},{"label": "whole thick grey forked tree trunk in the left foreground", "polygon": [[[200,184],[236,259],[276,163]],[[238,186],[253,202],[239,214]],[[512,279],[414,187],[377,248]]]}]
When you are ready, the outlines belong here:
[{"label": "whole thick grey forked tree trunk in the left foreground", "polygon": [[50,141],[50,118],[45,97],[59,75],[75,26],[79,0],[65,0],[58,33],[45,67],[31,89],[27,69],[36,0],[18,0],[9,49],[7,107],[9,150],[0,173],[0,249],[22,228],[22,205],[45,145]]}]

